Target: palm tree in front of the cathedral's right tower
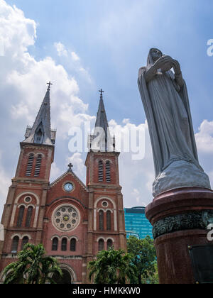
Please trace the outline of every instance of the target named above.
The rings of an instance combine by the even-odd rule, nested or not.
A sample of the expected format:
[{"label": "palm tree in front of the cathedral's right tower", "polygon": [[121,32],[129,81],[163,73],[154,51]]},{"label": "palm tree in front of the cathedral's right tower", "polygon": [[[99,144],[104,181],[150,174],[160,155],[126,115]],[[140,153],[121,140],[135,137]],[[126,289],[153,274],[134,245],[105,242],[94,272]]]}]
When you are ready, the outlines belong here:
[{"label": "palm tree in front of the cathedral's right tower", "polygon": [[136,267],[131,263],[131,255],[124,250],[102,250],[97,260],[89,262],[89,279],[95,284],[126,284],[131,275],[136,274]]}]

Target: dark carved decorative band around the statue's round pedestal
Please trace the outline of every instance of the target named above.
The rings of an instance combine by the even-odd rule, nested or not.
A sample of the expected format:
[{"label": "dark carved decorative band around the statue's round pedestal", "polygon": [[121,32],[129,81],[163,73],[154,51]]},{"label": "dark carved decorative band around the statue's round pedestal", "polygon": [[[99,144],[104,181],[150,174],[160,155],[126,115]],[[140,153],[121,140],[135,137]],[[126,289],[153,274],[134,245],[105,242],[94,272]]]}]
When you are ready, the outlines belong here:
[{"label": "dark carved decorative band around the statue's round pedestal", "polygon": [[153,224],[153,238],[176,231],[205,230],[209,223],[213,223],[212,210],[191,211],[185,214],[168,216]]}]

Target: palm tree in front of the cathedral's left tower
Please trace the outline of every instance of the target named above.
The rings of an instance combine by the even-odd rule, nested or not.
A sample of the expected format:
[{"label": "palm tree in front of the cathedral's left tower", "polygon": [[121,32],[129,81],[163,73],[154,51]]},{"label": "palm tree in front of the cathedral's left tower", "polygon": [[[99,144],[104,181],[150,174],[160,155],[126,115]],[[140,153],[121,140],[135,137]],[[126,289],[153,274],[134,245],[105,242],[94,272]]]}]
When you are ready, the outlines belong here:
[{"label": "palm tree in front of the cathedral's left tower", "polygon": [[4,268],[4,284],[44,284],[55,283],[50,276],[62,271],[55,258],[45,256],[42,244],[33,245],[27,243],[23,250],[18,253],[18,261]]}]

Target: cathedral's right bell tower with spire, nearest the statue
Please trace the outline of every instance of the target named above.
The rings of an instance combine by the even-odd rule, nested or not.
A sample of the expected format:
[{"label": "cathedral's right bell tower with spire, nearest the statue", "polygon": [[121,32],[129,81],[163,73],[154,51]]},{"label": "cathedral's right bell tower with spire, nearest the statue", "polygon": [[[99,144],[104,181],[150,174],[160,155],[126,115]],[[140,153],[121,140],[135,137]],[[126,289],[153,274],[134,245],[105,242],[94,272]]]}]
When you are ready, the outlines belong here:
[{"label": "cathedral's right bell tower with spire, nearest the statue", "polygon": [[119,152],[111,137],[104,108],[103,90],[94,135],[89,136],[87,188],[89,190],[88,261],[99,250],[114,246],[126,250],[124,206],[119,184]]}]

